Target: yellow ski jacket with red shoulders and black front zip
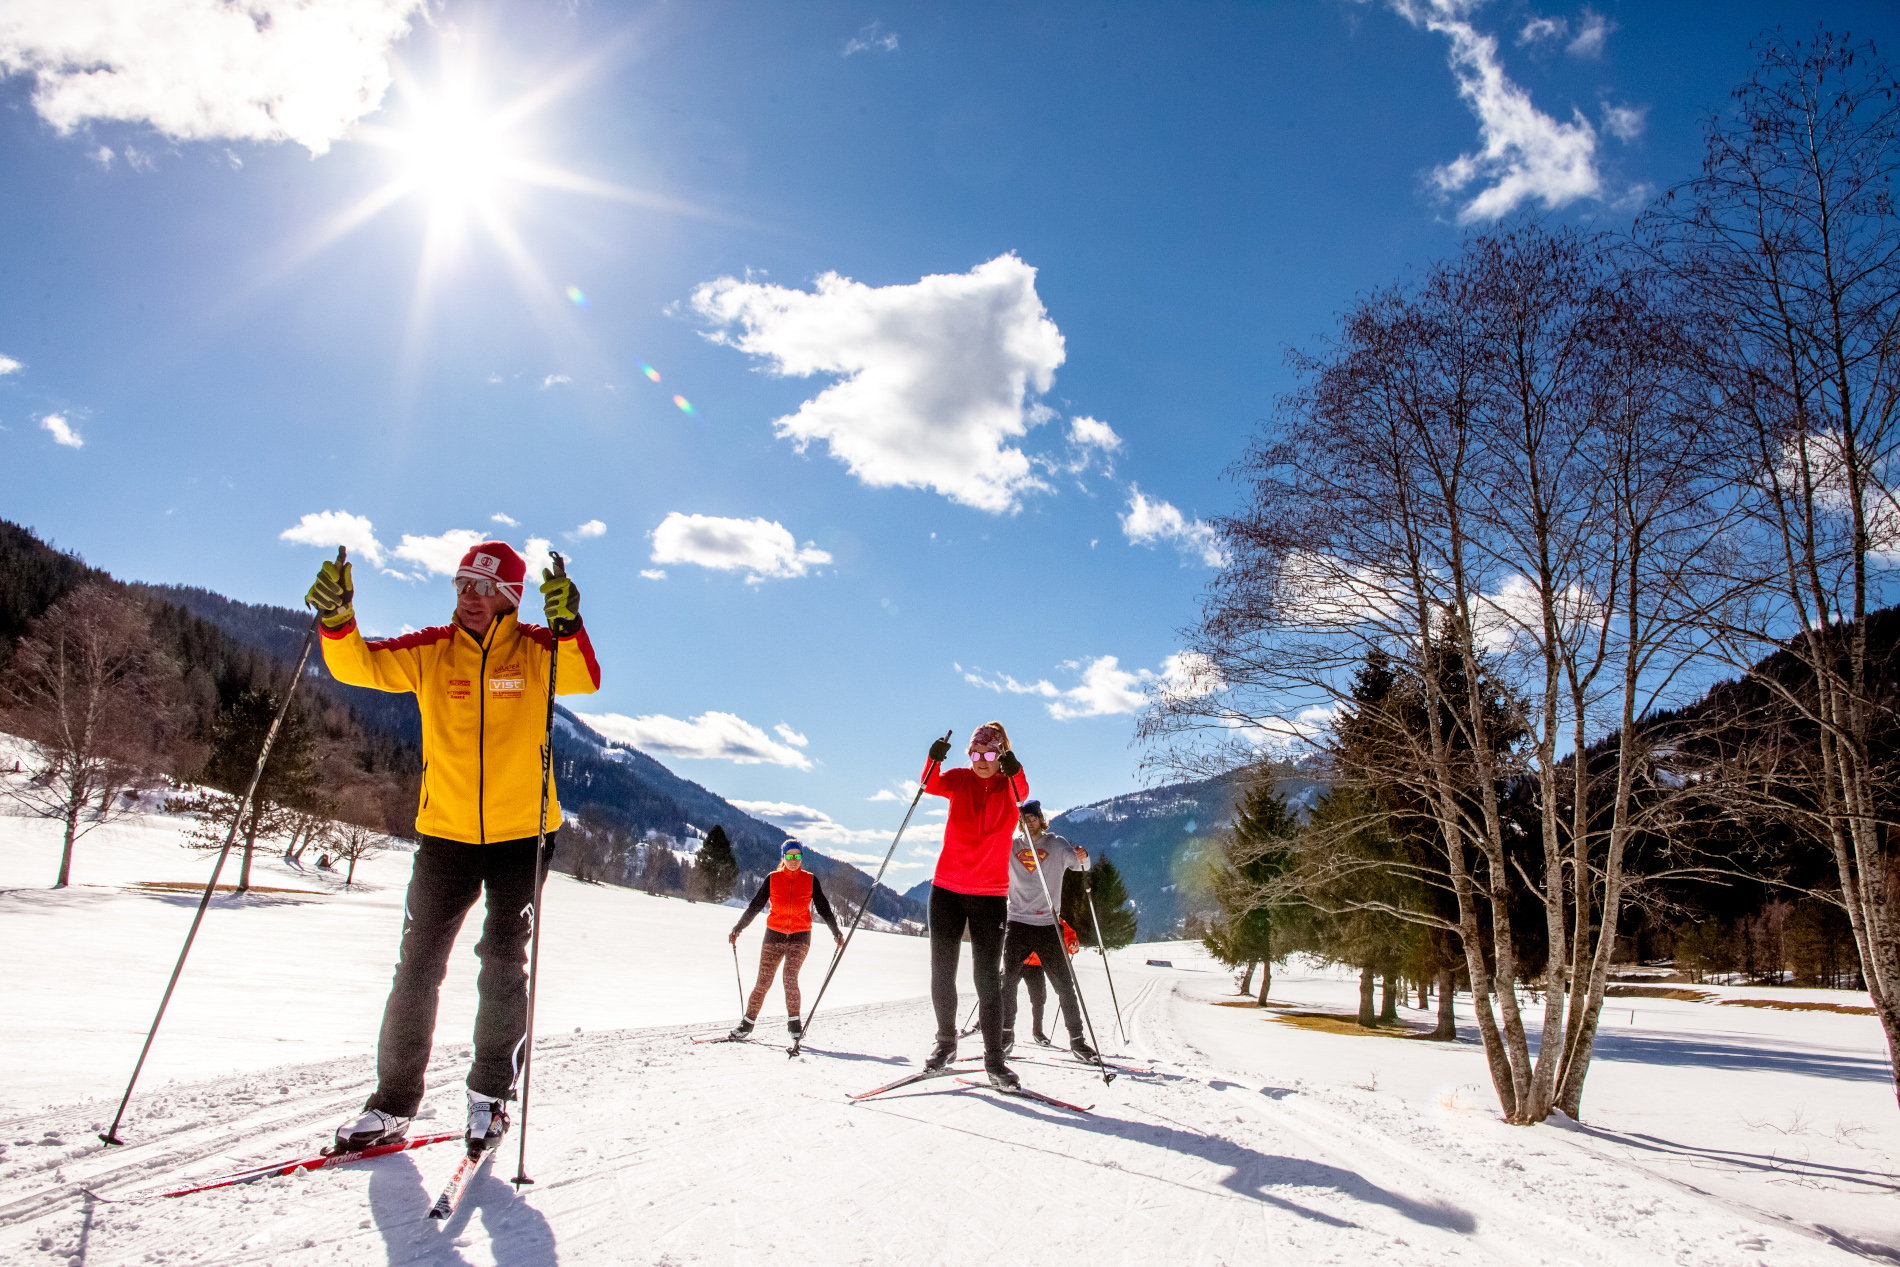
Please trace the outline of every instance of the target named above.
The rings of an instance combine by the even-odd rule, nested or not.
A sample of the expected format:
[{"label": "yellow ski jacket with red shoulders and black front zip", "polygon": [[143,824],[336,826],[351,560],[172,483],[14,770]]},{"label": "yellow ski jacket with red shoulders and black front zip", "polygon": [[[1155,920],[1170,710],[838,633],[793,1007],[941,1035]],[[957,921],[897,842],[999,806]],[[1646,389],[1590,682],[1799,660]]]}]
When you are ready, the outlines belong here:
[{"label": "yellow ski jacket with red shoulders and black front zip", "polygon": [[[557,650],[559,648],[559,650]],[[365,642],[355,621],[323,631],[323,663],[338,682],[412,691],[422,707],[422,798],[416,830],[484,845],[540,830],[542,726],[547,655],[560,657],[559,695],[600,690],[587,629],[560,638],[496,615],[481,638],[460,623]],[[553,775],[547,828],[560,826]]]}]

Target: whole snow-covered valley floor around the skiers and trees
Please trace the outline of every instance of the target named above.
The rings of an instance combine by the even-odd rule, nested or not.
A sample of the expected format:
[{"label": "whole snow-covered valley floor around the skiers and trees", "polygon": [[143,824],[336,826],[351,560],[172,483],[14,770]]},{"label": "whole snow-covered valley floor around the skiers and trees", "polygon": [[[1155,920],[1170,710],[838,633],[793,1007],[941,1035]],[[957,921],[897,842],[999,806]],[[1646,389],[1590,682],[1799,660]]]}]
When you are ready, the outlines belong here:
[{"label": "whole snow-covered valley floor around the skiers and trees", "polygon": [[[929,1043],[922,940],[861,933],[800,1060],[694,1045],[737,1007],[735,912],[564,876],[542,942],[536,1185],[507,1185],[511,1138],[446,1225],[424,1216],[454,1145],[95,1201],[82,1189],[125,1197],[314,1151],[370,1085],[408,857],[372,859],[344,893],[260,855],[255,883],[294,893],[217,898],[127,1145],[93,1138],[196,904],[137,885],[209,872],[179,836],[162,815],[101,828],[55,893],[57,824],[0,819],[0,1263],[1900,1259],[1900,1109],[1868,1016],[1617,1001],[1586,1125],[1510,1128],[1469,1028],[1457,1045],[1294,1028],[1220,1007],[1239,999],[1197,948],[1150,944],[1113,957],[1127,1041],[1100,967],[1079,965],[1104,1047],[1151,1071],[1104,1087],[1016,1062],[1026,1085],[1092,1113],[954,1081],[853,1104]],[[460,1126],[477,935],[471,919],[452,961],[422,1126]],[[747,984],[756,946],[754,929]],[[823,963],[815,952],[808,997]],[[1275,980],[1275,1001],[1298,1009],[1353,999],[1330,971]]]}]

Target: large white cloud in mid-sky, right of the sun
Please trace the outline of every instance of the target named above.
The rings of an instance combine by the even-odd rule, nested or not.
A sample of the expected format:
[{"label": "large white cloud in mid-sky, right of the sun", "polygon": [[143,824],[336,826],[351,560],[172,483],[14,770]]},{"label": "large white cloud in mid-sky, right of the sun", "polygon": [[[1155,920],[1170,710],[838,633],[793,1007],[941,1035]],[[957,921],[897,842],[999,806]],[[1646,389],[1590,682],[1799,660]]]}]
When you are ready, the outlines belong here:
[{"label": "large white cloud in mid-sky, right of the sun", "polygon": [[825,441],[874,488],[935,488],[992,513],[1047,488],[1011,441],[1051,416],[1030,395],[1049,391],[1066,353],[1036,270],[1015,255],[891,287],[838,274],[813,291],[720,277],[692,304],[718,327],[709,338],[773,374],[838,378],[775,420],[800,452]]}]

